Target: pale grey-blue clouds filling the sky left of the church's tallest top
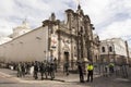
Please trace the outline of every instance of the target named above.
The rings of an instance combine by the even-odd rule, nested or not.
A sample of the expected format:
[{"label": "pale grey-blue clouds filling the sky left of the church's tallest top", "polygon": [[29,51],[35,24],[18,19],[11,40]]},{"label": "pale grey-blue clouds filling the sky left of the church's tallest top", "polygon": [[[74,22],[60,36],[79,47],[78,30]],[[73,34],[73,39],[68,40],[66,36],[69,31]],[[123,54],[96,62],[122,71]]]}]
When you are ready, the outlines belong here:
[{"label": "pale grey-blue clouds filling the sky left of the church's tallest top", "polygon": [[[10,35],[12,27],[21,25],[27,17],[32,28],[41,25],[51,12],[63,17],[64,10],[72,7],[72,0],[1,0],[0,2],[0,35]],[[62,15],[61,15],[62,14]],[[14,26],[15,25],[15,26]],[[4,26],[4,27],[3,27]]]}]

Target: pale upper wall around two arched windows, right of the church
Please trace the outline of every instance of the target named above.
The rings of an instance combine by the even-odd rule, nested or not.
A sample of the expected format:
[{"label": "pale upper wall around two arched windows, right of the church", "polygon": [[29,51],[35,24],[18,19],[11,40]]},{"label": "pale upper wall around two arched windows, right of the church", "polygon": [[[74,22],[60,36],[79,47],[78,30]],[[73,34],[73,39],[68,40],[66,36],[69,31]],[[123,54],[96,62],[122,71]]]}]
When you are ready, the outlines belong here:
[{"label": "pale upper wall around two arched windows, right of the church", "polygon": [[[105,52],[102,51],[102,47],[105,47]],[[112,48],[112,52],[109,52],[108,48]],[[100,41],[100,54],[119,54],[127,57],[126,42],[120,38],[112,38]]]}]

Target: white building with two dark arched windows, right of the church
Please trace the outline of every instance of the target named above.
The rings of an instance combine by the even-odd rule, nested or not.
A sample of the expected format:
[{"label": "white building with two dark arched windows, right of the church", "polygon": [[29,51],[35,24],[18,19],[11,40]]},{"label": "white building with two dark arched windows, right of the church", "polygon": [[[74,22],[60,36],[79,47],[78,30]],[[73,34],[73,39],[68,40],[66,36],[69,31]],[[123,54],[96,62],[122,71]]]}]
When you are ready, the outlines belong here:
[{"label": "white building with two dark arched windows, right of the church", "polygon": [[111,38],[100,41],[100,62],[126,63],[128,47],[121,38]]}]

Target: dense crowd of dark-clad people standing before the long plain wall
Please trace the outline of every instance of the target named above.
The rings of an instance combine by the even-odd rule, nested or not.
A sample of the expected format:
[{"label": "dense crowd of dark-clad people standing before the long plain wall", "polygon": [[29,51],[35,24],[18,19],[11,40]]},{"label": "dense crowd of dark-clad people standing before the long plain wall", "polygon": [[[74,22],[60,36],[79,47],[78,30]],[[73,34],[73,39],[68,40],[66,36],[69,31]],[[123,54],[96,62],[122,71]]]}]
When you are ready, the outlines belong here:
[{"label": "dense crowd of dark-clad people standing before the long plain wall", "polygon": [[38,73],[40,73],[40,78],[55,78],[55,72],[57,72],[57,64],[55,62],[38,62],[35,61],[33,63],[17,63],[17,77],[25,76],[26,74],[33,74],[35,79],[38,78]]}]

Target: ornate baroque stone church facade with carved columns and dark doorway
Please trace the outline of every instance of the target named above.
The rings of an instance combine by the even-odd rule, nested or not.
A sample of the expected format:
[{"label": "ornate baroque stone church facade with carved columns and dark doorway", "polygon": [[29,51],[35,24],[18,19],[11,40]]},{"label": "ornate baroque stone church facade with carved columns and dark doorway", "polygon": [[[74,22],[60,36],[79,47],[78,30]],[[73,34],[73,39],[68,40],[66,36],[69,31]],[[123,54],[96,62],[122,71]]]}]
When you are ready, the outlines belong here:
[{"label": "ornate baroque stone church facade with carved columns and dark doorway", "polygon": [[43,22],[48,26],[49,54],[58,63],[97,62],[99,59],[99,37],[93,34],[94,26],[88,15],[84,15],[81,5],[74,12],[66,10],[66,21],[56,20],[55,13]]}]

